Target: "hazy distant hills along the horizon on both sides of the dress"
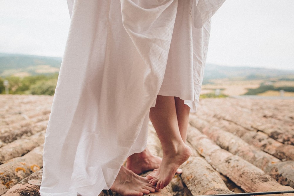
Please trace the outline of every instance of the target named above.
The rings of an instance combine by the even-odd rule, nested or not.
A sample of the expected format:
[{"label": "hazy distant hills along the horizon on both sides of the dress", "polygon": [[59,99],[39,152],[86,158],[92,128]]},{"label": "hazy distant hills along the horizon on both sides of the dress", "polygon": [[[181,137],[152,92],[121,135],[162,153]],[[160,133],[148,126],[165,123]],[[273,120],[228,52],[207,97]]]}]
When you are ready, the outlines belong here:
[{"label": "hazy distant hills along the horizon on both sides of the dress", "polygon": [[[0,77],[56,73],[59,72],[61,61],[62,58],[58,57],[0,53]],[[203,83],[218,78],[252,80],[284,76],[294,78],[294,70],[206,64]]]}]

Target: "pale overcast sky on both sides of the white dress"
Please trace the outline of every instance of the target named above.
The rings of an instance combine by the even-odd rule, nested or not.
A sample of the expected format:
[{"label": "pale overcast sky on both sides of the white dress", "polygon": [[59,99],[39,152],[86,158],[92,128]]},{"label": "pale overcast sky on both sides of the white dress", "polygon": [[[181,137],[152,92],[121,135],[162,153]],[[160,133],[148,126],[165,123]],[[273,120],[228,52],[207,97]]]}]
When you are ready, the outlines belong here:
[{"label": "pale overcast sky on both sides of the white dress", "polygon": [[[225,1],[207,63],[294,70],[293,10],[294,0]],[[0,53],[62,57],[69,23],[66,0],[0,0]]]}]

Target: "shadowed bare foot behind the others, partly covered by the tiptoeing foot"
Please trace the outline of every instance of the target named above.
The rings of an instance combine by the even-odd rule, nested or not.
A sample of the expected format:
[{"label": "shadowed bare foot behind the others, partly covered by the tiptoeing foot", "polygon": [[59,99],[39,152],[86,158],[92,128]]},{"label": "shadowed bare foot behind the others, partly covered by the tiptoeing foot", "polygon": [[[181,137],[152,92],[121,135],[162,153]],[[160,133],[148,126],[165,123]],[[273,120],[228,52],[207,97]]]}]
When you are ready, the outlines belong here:
[{"label": "shadowed bare foot behind the others, partly covered by the tiptoeing foot", "polygon": [[126,168],[132,170],[136,174],[154,170],[159,167],[161,158],[154,156],[146,148],[141,153],[134,153],[127,158]]}]

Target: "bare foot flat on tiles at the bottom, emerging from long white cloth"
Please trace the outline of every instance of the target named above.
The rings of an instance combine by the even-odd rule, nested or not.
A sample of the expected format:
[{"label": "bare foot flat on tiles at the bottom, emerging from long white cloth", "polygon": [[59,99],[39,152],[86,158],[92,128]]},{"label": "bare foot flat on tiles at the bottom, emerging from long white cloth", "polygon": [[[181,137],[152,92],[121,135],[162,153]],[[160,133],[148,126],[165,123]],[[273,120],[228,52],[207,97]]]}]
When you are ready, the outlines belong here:
[{"label": "bare foot flat on tiles at the bottom, emerging from long white cloth", "polygon": [[124,166],[121,166],[110,189],[124,196],[141,196],[155,192],[155,187],[146,177],[139,176]]}]

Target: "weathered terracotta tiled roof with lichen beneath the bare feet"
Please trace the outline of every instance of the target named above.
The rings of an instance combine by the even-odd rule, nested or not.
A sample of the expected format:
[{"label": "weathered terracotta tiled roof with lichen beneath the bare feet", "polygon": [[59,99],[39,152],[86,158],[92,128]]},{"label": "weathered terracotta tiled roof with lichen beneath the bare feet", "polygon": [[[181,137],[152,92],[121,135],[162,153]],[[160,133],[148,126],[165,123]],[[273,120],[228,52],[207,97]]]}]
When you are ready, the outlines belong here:
[{"label": "weathered terracotta tiled roof with lichen beneath the bare feet", "polygon": [[[0,195],[39,195],[52,100],[0,95]],[[149,195],[293,190],[294,99],[203,99],[190,115],[188,145],[183,173]],[[162,155],[151,123],[148,148]]]}]

